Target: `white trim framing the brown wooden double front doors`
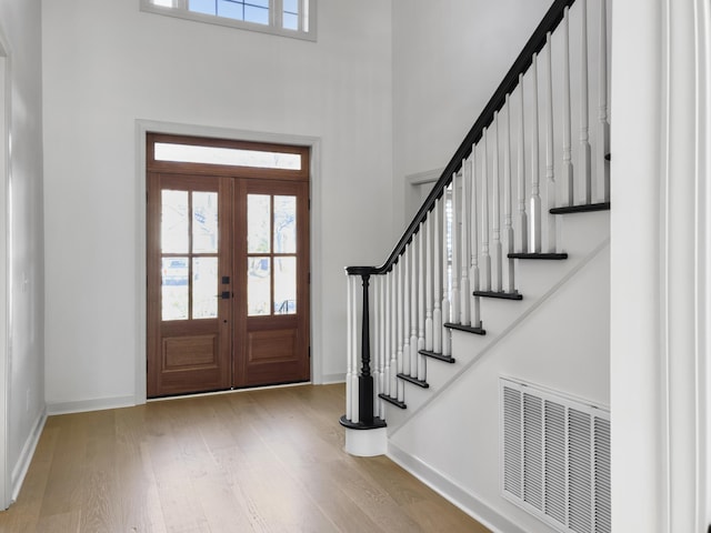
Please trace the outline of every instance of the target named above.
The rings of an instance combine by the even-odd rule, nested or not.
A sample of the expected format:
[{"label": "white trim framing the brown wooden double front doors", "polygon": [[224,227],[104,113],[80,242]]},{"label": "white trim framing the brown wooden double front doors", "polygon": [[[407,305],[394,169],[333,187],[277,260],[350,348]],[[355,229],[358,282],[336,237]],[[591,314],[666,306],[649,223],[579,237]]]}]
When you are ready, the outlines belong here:
[{"label": "white trim framing the brown wooden double front doors", "polygon": [[[180,124],[153,120],[136,121],[136,388],[134,401],[146,403],[146,135],[169,133],[174,135],[210,137],[236,141],[298,144],[311,149],[311,279],[321,279],[321,180],[320,147],[317,137],[267,133],[230,128]],[[323,383],[321,284],[311,283],[311,382]]]}]

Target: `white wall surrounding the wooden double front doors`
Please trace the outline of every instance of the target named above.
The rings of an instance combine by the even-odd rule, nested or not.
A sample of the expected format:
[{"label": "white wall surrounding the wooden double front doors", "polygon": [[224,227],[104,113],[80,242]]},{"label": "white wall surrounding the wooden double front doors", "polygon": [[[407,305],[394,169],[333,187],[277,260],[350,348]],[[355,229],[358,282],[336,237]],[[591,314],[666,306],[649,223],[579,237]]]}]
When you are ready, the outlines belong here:
[{"label": "white wall surrounding the wooden double front doors", "polygon": [[321,139],[313,352],[344,373],[343,266],[393,240],[389,2],[319,2],[316,43],[138,3],[42,4],[48,403],[137,393],[136,120]]}]

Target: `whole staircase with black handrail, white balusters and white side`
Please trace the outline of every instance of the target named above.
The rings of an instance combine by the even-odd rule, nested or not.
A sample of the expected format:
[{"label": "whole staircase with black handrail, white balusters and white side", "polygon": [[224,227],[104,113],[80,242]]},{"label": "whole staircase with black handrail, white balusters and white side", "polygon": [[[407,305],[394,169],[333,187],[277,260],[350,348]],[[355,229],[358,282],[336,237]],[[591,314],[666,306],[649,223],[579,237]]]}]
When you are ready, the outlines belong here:
[{"label": "whole staircase with black handrail, white balusters and white side", "polygon": [[[583,399],[608,386],[608,13],[590,3],[553,2],[388,260],[346,269],[347,451],[388,453],[502,531],[531,527],[518,509],[507,521],[505,504],[462,492],[468,447],[454,441],[474,431],[468,421],[488,428],[480,457],[495,463],[502,376]],[[560,519],[542,505],[539,521],[610,531],[609,463],[591,457],[602,469],[592,510]],[[499,470],[472,463],[489,480],[478,491],[498,494]],[[577,484],[565,477],[565,505]],[[513,503],[531,512],[531,497]]]}]

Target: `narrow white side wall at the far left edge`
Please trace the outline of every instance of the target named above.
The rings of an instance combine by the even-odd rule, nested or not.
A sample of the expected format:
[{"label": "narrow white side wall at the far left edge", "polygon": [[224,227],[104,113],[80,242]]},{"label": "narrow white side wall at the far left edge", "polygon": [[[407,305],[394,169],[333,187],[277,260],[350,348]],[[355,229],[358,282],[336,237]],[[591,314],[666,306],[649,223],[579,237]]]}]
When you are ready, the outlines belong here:
[{"label": "narrow white side wall at the far left edge", "polygon": [[[7,421],[0,423],[7,424],[4,474],[10,476],[12,492],[19,487],[44,413],[40,28],[39,0],[0,0],[0,32],[8,46],[6,74],[11,103],[9,213],[2,207],[2,217],[9,214],[10,224],[8,406]],[[6,384],[0,386],[4,391]]]}]

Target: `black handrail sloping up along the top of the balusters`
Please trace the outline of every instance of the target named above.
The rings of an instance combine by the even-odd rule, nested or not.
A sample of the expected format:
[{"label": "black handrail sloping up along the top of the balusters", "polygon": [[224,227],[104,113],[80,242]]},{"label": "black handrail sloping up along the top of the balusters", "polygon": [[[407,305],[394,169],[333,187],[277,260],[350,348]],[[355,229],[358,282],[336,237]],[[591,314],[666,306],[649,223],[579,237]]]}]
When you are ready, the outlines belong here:
[{"label": "black handrail sloping up along the top of the balusters", "polygon": [[563,20],[563,13],[565,8],[569,8],[575,2],[575,0],[555,0],[552,6],[538,24],[535,31],[521,50],[521,53],[513,62],[511,69],[503,78],[503,81],[493,93],[493,97],[489,100],[489,103],[484,107],[483,111],[472,125],[469,133],[454,152],[454,155],[450,160],[449,164],[442,171],[442,175],[437,181],[432,191],[424,200],[424,203],[420,207],[420,210],[410,222],[410,225],[398,241],[398,244],[393,249],[388,260],[382,266],[348,266],[346,272],[349,275],[378,275],[389,272],[392,266],[398,262],[398,259],[404,252],[405,247],[412,241],[412,238],[418,232],[420,224],[427,218],[428,213],[434,208],[434,202],[442,197],[444,189],[452,181],[452,175],[458,172],[462,167],[462,161],[471,154],[471,148],[481,139],[484,128],[493,122],[493,115],[497,111],[503,108],[505,103],[507,94],[513,92],[519,84],[519,74],[524,74],[531,66],[533,54],[540,52],[545,46],[545,36],[548,32],[552,32],[558,28],[558,24]]}]

